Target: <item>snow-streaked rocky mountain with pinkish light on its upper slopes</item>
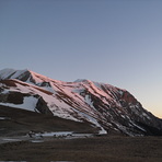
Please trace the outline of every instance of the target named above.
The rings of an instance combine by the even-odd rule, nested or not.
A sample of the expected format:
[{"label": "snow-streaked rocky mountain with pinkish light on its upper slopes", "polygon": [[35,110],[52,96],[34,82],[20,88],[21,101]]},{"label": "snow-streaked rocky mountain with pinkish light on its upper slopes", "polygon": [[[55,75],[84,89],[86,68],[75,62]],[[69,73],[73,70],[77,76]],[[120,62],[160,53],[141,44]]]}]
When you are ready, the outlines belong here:
[{"label": "snow-streaked rocky mountain with pinkish light on its upper slopes", "polygon": [[129,136],[162,135],[162,120],[128,91],[90,80],[63,82],[31,70],[0,71],[0,105],[48,114]]}]

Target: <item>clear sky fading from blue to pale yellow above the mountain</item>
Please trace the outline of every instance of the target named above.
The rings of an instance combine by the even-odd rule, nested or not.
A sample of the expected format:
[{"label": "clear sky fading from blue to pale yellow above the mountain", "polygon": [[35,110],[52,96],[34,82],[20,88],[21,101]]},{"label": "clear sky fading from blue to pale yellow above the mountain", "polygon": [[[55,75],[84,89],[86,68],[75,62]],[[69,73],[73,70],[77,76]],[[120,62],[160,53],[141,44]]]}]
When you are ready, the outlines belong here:
[{"label": "clear sky fading from blue to pale yellow above the mountain", "polygon": [[162,118],[162,0],[0,0],[0,69],[89,79]]}]

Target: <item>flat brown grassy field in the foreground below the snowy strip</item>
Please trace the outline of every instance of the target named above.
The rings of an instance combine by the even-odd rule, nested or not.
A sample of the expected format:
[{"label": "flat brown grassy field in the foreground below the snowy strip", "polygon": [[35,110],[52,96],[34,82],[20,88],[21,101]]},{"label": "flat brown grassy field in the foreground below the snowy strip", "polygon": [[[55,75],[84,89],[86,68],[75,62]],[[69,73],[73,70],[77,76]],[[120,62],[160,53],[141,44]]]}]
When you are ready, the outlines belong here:
[{"label": "flat brown grassy field in the foreground below the snowy strip", "polygon": [[162,137],[93,137],[0,144],[0,161],[162,162]]}]

